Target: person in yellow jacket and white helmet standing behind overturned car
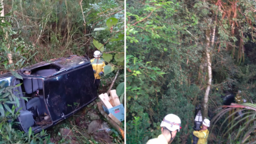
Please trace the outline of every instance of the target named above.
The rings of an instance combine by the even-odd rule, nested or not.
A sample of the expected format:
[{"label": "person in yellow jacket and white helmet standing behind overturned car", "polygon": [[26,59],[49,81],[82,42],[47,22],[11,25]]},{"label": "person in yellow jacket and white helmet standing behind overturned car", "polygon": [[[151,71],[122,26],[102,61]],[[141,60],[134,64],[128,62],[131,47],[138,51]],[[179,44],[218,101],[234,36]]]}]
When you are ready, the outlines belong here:
[{"label": "person in yellow jacket and white helmet standing behind overturned car", "polygon": [[105,62],[100,59],[100,51],[96,50],[94,52],[94,58],[91,60],[91,63],[94,71],[95,84],[98,89],[100,86],[100,78],[104,76],[104,66],[106,66]]}]

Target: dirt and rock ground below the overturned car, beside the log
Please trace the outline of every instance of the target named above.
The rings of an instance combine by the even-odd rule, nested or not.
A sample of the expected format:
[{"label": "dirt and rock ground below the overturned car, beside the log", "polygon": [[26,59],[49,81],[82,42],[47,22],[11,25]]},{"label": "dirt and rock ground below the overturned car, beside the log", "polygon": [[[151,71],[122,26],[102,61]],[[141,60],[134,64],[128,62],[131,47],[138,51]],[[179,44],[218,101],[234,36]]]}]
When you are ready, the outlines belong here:
[{"label": "dirt and rock ground below the overturned car, beside the log", "polygon": [[73,116],[48,129],[54,144],[124,144],[100,114],[95,100]]}]

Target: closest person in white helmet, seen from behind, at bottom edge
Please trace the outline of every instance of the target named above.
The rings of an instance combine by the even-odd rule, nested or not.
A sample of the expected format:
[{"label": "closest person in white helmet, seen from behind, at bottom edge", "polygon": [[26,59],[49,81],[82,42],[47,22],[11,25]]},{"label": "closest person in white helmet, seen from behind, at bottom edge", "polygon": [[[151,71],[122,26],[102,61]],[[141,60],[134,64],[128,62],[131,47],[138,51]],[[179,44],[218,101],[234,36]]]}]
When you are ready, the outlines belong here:
[{"label": "closest person in white helmet, seen from behind, at bottom edge", "polygon": [[160,134],[157,138],[153,138],[148,140],[146,144],[168,144],[171,143],[177,131],[180,132],[181,121],[178,116],[175,114],[168,114],[164,117],[164,120],[160,125],[162,134]]}]

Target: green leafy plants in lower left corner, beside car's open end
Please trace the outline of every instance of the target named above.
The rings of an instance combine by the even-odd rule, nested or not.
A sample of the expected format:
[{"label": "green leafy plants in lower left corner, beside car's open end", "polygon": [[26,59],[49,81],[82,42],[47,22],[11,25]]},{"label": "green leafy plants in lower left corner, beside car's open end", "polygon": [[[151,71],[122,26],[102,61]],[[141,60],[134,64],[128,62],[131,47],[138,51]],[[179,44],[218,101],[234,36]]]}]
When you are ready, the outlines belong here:
[{"label": "green leafy plants in lower left corner, beside car's open end", "polygon": [[[26,134],[17,130],[19,111],[15,109],[20,105],[18,98],[12,94],[14,86],[3,88],[4,83],[0,84],[0,144],[53,144],[50,142],[50,136],[47,136],[46,131],[42,130],[39,134],[34,134],[30,127],[29,132]],[[26,99],[26,98],[25,98]],[[26,99],[27,100],[27,99]],[[14,106],[12,104],[16,104]],[[12,105],[12,109],[8,105]],[[4,111],[4,108],[6,111]]]}]

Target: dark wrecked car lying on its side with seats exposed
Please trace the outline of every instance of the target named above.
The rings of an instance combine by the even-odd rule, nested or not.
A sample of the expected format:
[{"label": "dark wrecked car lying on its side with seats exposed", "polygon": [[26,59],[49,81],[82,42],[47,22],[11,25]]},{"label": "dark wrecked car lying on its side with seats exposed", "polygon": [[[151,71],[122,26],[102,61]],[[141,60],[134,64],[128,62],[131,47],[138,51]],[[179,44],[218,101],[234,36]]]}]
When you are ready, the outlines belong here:
[{"label": "dark wrecked car lying on its side with seats exposed", "polygon": [[[21,110],[18,128],[34,133],[54,126],[97,98],[94,72],[88,57],[70,56],[40,62],[17,71],[23,80],[7,73],[0,75],[5,86],[16,86]],[[28,102],[20,97],[29,97]],[[15,104],[16,106],[16,104]],[[11,106],[10,106],[11,108]]]}]

